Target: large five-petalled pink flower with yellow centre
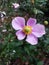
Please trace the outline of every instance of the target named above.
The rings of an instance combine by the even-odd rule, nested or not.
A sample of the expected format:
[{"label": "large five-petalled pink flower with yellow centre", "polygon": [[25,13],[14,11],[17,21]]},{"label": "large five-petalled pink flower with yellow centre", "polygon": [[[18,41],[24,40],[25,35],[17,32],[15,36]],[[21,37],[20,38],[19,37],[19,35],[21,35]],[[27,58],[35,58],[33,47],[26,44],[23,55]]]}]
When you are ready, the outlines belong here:
[{"label": "large five-petalled pink flower with yellow centre", "polygon": [[[29,18],[27,22],[23,17],[15,17],[12,20],[12,27],[17,30],[16,36],[19,40],[23,40],[26,36],[26,41],[31,45],[38,43],[38,38],[45,34],[45,27],[42,24],[36,24],[36,19]],[[27,23],[25,25],[25,23]]]}]

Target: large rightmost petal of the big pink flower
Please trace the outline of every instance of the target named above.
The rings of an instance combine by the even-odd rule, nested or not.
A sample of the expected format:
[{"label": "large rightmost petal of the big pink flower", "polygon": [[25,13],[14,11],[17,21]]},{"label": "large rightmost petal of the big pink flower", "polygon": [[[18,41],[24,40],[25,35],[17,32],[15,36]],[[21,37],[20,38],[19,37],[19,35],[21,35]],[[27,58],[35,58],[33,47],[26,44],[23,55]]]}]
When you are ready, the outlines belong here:
[{"label": "large rightmost petal of the big pink flower", "polygon": [[32,32],[36,37],[41,37],[45,34],[45,27],[42,24],[36,24],[33,27],[33,32]]}]

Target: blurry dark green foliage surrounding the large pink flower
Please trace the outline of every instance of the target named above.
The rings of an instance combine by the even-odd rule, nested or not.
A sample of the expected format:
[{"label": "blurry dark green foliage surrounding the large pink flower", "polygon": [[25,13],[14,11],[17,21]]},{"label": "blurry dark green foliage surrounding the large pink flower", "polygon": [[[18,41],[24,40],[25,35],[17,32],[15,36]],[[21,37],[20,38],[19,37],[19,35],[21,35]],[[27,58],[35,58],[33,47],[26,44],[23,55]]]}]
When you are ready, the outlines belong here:
[{"label": "blurry dark green foliage surrounding the large pink flower", "polygon": [[[20,4],[18,9],[11,7],[12,3]],[[44,21],[49,23],[49,1],[35,0],[0,0],[0,11],[5,11],[4,21],[0,21],[0,65],[8,65],[11,60],[20,58],[23,62],[28,61],[29,65],[43,65],[43,58],[49,57],[49,24],[45,25]],[[48,14],[48,15],[47,15]],[[34,17],[37,22],[45,25],[46,34],[39,39],[37,45],[32,46],[24,41],[17,40],[15,31],[11,26],[11,21],[16,16],[22,16],[26,20]],[[2,26],[2,27],[1,27]],[[2,32],[6,29],[7,32]]]}]

